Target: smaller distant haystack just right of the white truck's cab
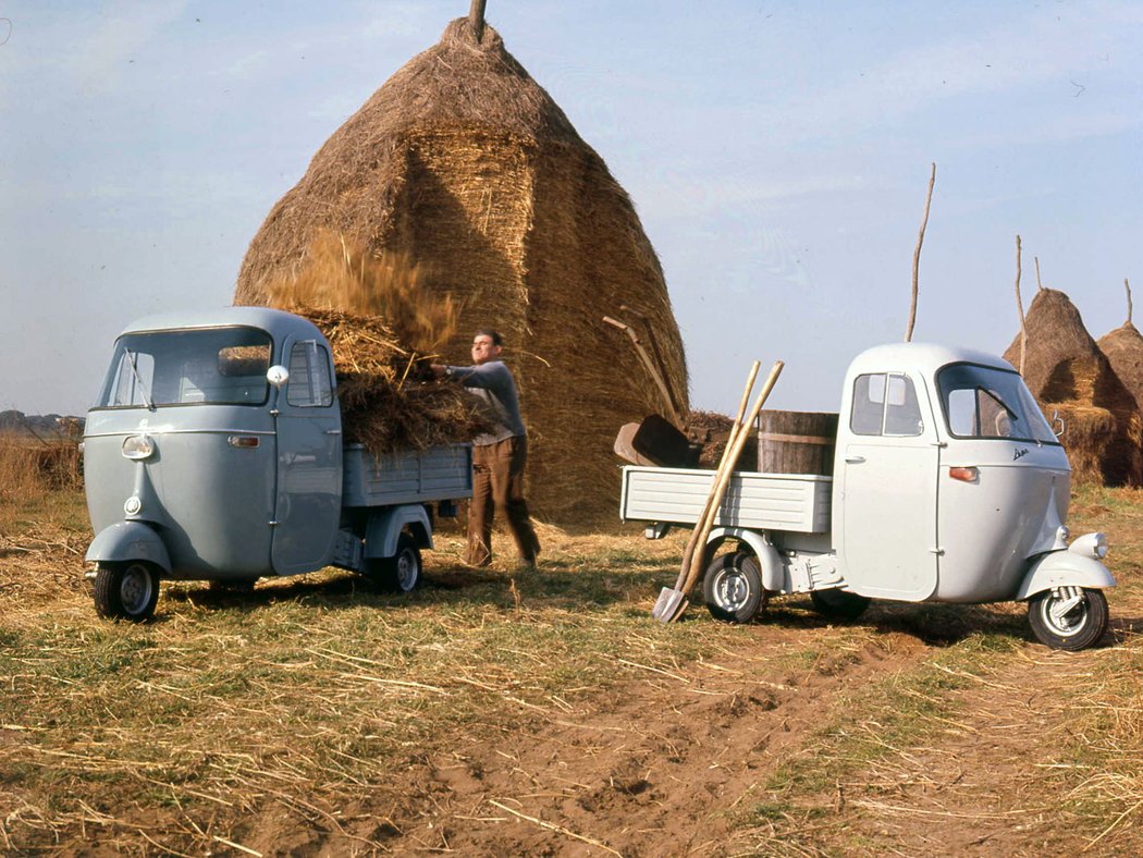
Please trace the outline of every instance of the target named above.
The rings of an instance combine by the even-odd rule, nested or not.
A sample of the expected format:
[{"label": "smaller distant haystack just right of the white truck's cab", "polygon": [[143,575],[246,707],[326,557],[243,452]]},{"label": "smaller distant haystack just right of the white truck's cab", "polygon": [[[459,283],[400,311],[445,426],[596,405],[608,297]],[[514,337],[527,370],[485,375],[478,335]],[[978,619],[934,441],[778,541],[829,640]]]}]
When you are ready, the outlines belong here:
[{"label": "smaller distant haystack just right of the white truck's cab", "polygon": [[[1040,289],[1025,318],[1024,380],[1047,415],[1058,411],[1061,440],[1077,482],[1140,485],[1143,420],[1135,398],[1084,327],[1079,310],[1056,289]],[[1020,335],[1005,352],[1020,366]]]}]

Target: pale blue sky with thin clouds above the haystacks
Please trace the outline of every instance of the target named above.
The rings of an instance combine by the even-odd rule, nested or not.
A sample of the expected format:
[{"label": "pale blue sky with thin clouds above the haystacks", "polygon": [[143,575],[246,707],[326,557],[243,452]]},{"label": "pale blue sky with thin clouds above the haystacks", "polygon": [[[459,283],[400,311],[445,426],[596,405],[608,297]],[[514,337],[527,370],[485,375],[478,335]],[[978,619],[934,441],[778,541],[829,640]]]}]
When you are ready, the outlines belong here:
[{"label": "pale blue sky with thin clouds above the haystacks", "polygon": [[[0,0],[0,410],[82,413],[115,334],[230,303],[270,207],[465,0]],[[836,410],[857,351],[1002,351],[1072,297],[1143,305],[1143,2],[488,0],[488,22],[626,188],[696,407]],[[602,336],[612,336],[601,331]],[[609,343],[614,341],[609,340]]]}]

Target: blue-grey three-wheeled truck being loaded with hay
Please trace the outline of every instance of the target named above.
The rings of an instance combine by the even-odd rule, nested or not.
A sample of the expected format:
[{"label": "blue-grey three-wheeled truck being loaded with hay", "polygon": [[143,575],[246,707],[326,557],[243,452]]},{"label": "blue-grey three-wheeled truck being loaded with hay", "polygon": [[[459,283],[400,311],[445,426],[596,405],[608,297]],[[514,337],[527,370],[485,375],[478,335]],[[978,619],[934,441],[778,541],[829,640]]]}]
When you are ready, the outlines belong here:
[{"label": "blue-grey three-wheeled truck being loaded with hay", "polygon": [[128,326],[83,432],[96,610],[145,620],[162,578],[248,588],[328,565],[411,590],[434,511],[472,495],[472,448],[343,445],[329,343],[293,313]]}]

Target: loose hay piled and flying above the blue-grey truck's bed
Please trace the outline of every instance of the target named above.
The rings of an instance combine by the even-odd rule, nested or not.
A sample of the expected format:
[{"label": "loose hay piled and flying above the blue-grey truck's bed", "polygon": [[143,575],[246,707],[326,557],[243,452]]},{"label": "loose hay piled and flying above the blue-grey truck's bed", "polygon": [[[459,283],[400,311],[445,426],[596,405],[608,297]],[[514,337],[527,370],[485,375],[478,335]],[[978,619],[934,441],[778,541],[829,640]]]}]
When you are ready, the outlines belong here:
[{"label": "loose hay piled and flying above the blue-grey truck's bed", "polygon": [[326,335],[345,439],[375,455],[466,442],[488,429],[479,399],[429,371],[437,343],[456,327],[456,308],[425,294],[419,278],[405,259],[374,256],[326,232],[295,272],[266,285],[272,307]]}]

